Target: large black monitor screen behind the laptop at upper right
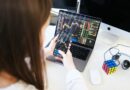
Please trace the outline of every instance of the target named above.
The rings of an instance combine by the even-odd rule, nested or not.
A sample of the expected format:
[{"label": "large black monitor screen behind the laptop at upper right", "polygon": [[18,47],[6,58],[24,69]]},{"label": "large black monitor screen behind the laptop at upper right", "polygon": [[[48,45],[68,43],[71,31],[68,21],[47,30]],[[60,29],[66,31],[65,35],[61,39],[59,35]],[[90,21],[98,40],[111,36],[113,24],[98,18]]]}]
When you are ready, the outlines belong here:
[{"label": "large black monitor screen behind the laptop at upper right", "polygon": [[130,32],[129,0],[81,0],[80,13]]}]

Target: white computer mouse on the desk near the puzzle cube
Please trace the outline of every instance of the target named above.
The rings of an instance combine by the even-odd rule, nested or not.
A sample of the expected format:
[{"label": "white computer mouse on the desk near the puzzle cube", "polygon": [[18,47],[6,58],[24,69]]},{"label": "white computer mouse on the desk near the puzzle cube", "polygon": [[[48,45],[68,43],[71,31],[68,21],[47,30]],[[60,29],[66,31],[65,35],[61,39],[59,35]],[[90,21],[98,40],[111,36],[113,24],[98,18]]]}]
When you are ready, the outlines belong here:
[{"label": "white computer mouse on the desk near the puzzle cube", "polygon": [[101,84],[101,75],[97,69],[90,69],[89,74],[90,74],[90,82],[93,85]]}]

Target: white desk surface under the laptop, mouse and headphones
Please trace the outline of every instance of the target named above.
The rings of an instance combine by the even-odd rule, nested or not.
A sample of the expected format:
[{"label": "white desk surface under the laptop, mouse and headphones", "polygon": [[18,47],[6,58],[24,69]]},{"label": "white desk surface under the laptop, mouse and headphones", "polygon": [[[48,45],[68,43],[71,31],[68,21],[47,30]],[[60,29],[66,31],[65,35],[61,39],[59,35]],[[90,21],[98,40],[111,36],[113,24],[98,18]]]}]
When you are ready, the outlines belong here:
[{"label": "white desk surface under the laptop, mouse and headphones", "polygon": [[[130,33],[122,31],[118,28],[111,27],[108,31],[109,25],[101,23],[98,33],[97,41],[88,64],[83,72],[83,76],[87,82],[89,90],[129,90],[130,89],[130,69],[123,70],[121,66],[112,75],[107,75],[103,69],[104,52],[111,46],[116,44],[130,45]],[[46,43],[54,36],[55,27],[49,26],[46,30]],[[122,52],[130,55],[130,48],[119,47]],[[111,57],[108,57],[108,59]],[[130,60],[130,58],[129,58]],[[121,60],[123,61],[123,59]],[[100,85],[92,85],[89,78],[89,70],[98,69],[101,74],[102,83]],[[48,74],[48,90],[66,90],[65,75],[66,69],[57,63],[47,61]]]}]

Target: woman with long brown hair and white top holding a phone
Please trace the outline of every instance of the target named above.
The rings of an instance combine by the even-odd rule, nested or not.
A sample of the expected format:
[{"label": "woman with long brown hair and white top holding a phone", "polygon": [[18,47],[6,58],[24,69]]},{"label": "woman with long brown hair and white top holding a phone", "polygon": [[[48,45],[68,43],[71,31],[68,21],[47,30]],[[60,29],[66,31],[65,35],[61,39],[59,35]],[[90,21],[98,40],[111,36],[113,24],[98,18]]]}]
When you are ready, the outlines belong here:
[{"label": "woman with long brown hair and white top holding a phone", "polygon": [[[0,0],[0,90],[45,90],[45,57],[53,51],[56,41],[54,38],[42,50],[50,9],[50,0]],[[85,90],[70,51],[60,53],[70,71],[68,82],[73,81],[68,88],[76,90],[80,88],[76,84],[82,83]],[[73,74],[78,83],[71,78]]]}]

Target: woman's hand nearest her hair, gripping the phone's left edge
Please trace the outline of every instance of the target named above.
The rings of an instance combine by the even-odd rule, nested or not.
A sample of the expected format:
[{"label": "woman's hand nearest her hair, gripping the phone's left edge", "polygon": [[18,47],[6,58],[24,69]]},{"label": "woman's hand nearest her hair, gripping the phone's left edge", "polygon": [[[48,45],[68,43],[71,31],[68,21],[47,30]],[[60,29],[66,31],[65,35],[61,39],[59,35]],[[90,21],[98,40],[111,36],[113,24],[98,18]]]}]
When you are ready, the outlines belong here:
[{"label": "woman's hand nearest her hair, gripping the phone's left edge", "polygon": [[58,38],[58,35],[51,40],[50,45],[48,47],[44,48],[44,53],[46,57],[53,55],[57,38]]}]

